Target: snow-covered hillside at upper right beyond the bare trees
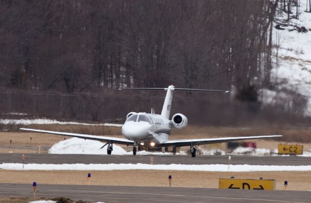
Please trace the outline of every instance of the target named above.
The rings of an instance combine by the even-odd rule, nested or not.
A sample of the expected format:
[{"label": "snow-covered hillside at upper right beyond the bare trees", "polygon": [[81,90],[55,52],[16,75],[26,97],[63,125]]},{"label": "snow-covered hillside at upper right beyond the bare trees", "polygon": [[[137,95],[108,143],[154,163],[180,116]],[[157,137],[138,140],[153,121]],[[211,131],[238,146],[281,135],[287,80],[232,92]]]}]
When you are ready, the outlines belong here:
[{"label": "snow-covered hillside at upper right beyond the bare trees", "polygon": [[[296,104],[301,109],[294,113],[311,116],[311,13],[306,12],[306,1],[300,1],[299,19],[291,19],[281,10],[276,12],[273,30],[272,82],[271,90],[264,90],[268,103],[283,104],[291,108]],[[298,104],[298,105],[297,105]],[[305,107],[304,107],[305,105]]]}]

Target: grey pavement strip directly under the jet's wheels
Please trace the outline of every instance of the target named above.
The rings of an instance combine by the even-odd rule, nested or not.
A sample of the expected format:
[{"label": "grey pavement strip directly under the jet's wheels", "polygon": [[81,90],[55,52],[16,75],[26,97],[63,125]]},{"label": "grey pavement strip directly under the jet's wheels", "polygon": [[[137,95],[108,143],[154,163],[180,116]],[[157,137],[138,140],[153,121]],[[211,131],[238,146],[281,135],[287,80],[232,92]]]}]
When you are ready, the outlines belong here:
[{"label": "grey pavement strip directly under the jet's wheels", "polygon": [[[22,163],[22,154],[2,153],[0,163]],[[228,155],[93,155],[93,154],[25,154],[25,164],[228,164]],[[230,164],[306,166],[311,157],[231,155]]]}]

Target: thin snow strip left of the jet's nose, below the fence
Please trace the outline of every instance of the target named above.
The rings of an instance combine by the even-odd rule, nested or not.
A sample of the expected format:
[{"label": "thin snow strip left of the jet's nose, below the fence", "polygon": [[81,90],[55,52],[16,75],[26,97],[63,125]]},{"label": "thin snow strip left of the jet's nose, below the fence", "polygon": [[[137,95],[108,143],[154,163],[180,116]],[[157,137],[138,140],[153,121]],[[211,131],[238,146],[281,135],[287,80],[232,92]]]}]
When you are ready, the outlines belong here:
[{"label": "thin snow strip left of the jet's nose, below the fence", "polygon": [[13,124],[13,125],[31,125],[31,124],[60,124],[60,125],[89,125],[89,126],[116,126],[121,127],[121,124],[114,123],[100,123],[100,124],[91,124],[91,123],[79,123],[79,122],[63,122],[58,120],[51,119],[0,119],[0,124]]}]

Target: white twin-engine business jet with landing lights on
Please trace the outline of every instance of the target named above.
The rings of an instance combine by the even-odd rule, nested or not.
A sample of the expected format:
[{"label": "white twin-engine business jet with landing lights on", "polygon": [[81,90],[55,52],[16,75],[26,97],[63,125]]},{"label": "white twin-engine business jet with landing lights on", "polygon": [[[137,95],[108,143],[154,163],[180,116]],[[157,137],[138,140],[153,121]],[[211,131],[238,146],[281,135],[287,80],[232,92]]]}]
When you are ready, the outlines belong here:
[{"label": "white twin-engine business jet with landing lights on", "polygon": [[[155,114],[154,110],[149,113],[136,113],[130,112],[126,116],[126,121],[122,126],[122,134],[124,138],[115,138],[97,135],[84,135],[75,133],[54,132],[46,130],[36,130],[28,128],[20,128],[25,131],[34,131],[39,133],[49,133],[54,135],[72,136],[83,139],[92,139],[106,142],[107,154],[111,154],[113,144],[122,144],[133,146],[133,154],[136,155],[137,147],[139,148],[154,148],[154,147],[183,147],[190,146],[191,156],[195,157],[196,145],[221,143],[245,139],[259,139],[259,138],[272,138],[281,137],[282,135],[262,135],[262,136],[243,136],[243,137],[221,137],[221,138],[203,138],[203,139],[179,139],[169,140],[171,129],[184,128],[188,124],[188,119],[183,114],[175,114],[170,119],[170,111],[172,106],[173,91],[207,91],[207,92],[224,92],[223,90],[207,90],[207,89],[184,89],[175,88],[170,85],[168,88],[121,88],[126,90],[166,90],[166,97],[164,100],[161,114]],[[120,90],[121,90],[120,89]],[[102,148],[104,148],[104,146]],[[101,149],[102,149],[101,148]]]}]

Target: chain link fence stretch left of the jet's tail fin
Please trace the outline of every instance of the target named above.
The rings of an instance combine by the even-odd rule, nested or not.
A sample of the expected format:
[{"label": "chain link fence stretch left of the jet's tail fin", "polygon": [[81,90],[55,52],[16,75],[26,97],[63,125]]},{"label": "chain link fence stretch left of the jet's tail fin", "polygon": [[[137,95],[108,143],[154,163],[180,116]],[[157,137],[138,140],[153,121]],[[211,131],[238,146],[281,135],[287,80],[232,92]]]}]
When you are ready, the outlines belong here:
[{"label": "chain link fence stretch left of the jet's tail fin", "polygon": [[[0,115],[2,118],[18,116],[27,118],[118,121],[124,120],[128,112],[140,112],[145,106],[153,107],[160,111],[161,105],[162,100],[151,99],[15,92],[0,93]],[[149,112],[148,109],[146,111]]]}]

